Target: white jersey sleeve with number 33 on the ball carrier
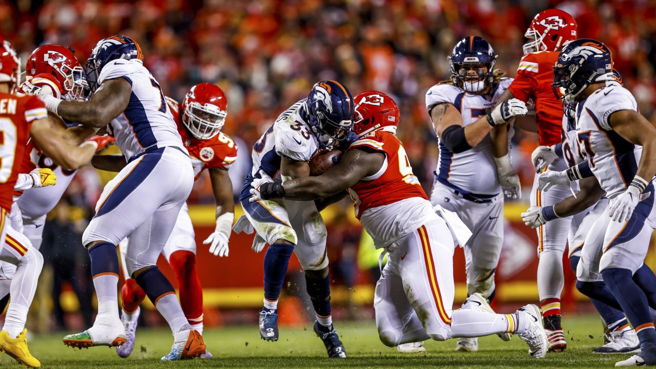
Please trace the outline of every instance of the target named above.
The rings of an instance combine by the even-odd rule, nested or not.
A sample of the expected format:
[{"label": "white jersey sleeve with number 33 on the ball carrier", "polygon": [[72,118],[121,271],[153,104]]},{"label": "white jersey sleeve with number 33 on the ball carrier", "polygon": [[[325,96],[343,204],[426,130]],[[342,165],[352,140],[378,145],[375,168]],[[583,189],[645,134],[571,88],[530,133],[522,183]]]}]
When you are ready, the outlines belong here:
[{"label": "white jersey sleeve with number 33 on the ball carrier", "polygon": [[312,158],[316,148],[316,145],[312,144],[314,137],[304,126],[301,126],[298,131],[291,128],[297,124],[290,119],[276,122],[274,125],[276,154],[297,162],[307,162]]}]

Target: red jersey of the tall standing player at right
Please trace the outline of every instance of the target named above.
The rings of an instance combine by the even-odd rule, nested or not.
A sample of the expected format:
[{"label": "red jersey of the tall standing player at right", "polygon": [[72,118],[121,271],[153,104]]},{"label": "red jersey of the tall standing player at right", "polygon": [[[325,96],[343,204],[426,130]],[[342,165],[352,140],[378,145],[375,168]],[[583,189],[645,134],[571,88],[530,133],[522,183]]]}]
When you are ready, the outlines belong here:
[{"label": "red jersey of the tall standing player at right", "polygon": [[563,103],[554,95],[553,66],[558,60],[558,51],[540,51],[525,54],[517,68],[517,77],[508,89],[522,101],[529,98],[535,102],[537,135],[541,145],[560,142],[563,123]]}]

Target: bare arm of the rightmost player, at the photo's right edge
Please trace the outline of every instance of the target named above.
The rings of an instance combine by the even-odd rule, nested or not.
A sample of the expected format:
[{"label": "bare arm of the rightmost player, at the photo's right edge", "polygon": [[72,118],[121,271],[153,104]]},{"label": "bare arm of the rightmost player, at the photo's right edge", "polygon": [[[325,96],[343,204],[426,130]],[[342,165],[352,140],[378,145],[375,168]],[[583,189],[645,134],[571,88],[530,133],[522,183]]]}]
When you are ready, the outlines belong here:
[{"label": "bare arm of the rightmost player, at the photo's right edge", "polygon": [[619,110],[609,117],[613,131],[632,144],[642,146],[636,175],[651,181],[656,175],[656,127],[635,110]]}]

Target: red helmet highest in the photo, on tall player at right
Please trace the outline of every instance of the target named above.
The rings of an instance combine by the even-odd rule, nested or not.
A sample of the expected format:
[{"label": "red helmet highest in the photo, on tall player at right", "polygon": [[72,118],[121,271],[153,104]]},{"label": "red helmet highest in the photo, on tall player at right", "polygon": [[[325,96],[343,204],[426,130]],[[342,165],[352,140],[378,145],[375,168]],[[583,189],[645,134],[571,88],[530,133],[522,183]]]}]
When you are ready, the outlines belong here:
[{"label": "red helmet highest in the photo, on tall player at right", "polygon": [[577,23],[567,12],[546,9],[537,13],[524,37],[533,39],[522,47],[524,54],[558,51],[565,43],[577,39]]}]

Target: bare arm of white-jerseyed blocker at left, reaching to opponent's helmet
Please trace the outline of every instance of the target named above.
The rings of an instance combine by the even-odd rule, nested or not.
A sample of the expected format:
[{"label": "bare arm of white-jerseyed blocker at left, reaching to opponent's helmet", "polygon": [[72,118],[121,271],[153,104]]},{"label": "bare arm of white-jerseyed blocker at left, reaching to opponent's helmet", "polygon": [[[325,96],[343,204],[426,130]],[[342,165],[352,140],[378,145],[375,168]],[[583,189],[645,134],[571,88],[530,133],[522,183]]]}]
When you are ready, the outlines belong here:
[{"label": "bare arm of white-jerseyed blocker at left, reaching to opponent's helmet", "polygon": [[104,81],[89,101],[62,101],[57,114],[89,127],[105,127],[121,114],[130,101],[132,86],[124,78]]}]

